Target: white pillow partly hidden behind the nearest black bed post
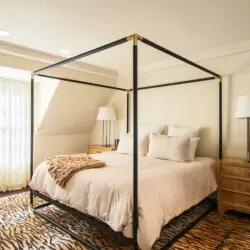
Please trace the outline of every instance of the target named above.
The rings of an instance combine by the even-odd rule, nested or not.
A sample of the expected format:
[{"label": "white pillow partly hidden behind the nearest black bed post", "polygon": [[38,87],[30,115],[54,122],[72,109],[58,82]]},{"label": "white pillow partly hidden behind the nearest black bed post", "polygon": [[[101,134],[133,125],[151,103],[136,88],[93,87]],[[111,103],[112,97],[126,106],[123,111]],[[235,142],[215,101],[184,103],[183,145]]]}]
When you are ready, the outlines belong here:
[{"label": "white pillow partly hidden behind the nearest black bed post", "polygon": [[[133,154],[133,135],[122,134],[117,147],[119,154]],[[139,135],[138,137],[138,155],[145,156],[148,152],[148,135]]]}]

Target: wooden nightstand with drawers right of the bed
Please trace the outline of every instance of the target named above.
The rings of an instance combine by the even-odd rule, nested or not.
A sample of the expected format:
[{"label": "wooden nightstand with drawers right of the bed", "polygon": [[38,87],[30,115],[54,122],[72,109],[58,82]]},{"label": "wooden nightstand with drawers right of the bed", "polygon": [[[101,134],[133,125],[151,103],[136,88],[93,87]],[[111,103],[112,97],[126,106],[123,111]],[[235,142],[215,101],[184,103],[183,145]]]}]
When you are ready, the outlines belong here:
[{"label": "wooden nightstand with drawers right of the bed", "polygon": [[218,162],[218,212],[250,213],[250,163],[227,158]]}]

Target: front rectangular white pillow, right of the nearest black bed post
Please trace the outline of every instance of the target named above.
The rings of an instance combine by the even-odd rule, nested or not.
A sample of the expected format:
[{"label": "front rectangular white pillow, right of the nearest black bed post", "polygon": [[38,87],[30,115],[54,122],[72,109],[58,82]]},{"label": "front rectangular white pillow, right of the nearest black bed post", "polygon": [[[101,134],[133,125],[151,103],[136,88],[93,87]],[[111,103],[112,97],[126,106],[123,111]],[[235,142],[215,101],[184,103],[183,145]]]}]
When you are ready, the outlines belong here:
[{"label": "front rectangular white pillow, right of the nearest black bed post", "polygon": [[189,140],[188,137],[150,134],[147,156],[178,162],[188,161]]}]

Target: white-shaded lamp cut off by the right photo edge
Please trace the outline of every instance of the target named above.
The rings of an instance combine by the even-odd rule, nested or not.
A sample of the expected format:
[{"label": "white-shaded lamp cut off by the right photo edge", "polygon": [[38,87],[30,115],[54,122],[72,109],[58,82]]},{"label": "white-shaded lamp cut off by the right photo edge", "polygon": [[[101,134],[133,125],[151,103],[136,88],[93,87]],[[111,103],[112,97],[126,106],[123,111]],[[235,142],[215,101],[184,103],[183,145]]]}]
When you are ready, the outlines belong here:
[{"label": "white-shaded lamp cut off by the right photo edge", "polygon": [[247,120],[247,161],[250,162],[250,96],[240,96],[234,118]]}]

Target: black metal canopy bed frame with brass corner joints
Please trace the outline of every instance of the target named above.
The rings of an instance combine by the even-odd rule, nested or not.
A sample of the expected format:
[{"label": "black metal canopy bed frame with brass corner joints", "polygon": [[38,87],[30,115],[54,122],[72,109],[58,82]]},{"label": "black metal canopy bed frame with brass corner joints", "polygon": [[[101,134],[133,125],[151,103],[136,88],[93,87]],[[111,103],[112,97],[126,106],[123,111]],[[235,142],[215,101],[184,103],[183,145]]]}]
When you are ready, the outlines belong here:
[{"label": "black metal canopy bed frame with brass corner joints", "polygon": [[[132,89],[123,89],[123,88],[117,88],[117,87],[112,87],[112,86],[107,86],[107,85],[102,85],[102,84],[96,84],[92,82],[85,82],[85,81],[78,81],[78,80],[73,80],[73,79],[68,79],[68,78],[62,78],[62,77],[57,77],[57,76],[49,76],[49,75],[44,75],[41,74],[41,72],[44,72],[46,70],[56,68],[62,65],[65,65],[67,63],[73,62],[75,60],[78,60],[80,58],[96,54],[98,52],[101,52],[103,50],[115,47],[117,45],[123,44],[127,41],[132,41],[133,42],[133,88]],[[201,71],[204,71],[211,75],[210,77],[206,78],[198,78],[198,79],[193,79],[193,80],[186,80],[186,81],[178,81],[178,82],[173,82],[173,83],[164,83],[164,84],[158,84],[158,85],[153,85],[153,86],[146,86],[146,87],[138,87],[138,41],[149,45],[150,47],[153,47],[159,51],[162,51],[165,54],[168,54],[174,58],[179,59],[180,61],[187,63],[197,69],[200,69]],[[87,51],[85,53],[79,54],[77,56],[74,56],[72,58],[60,61],[58,63],[52,64],[50,66],[38,69],[34,71],[31,75],[31,147],[30,147],[30,178],[33,176],[33,155],[34,155],[34,77],[35,76],[40,76],[40,77],[47,77],[47,78],[52,78],[52,79],[58,79],[58,80],[63,80],[63,81],[69,81],[73,83],[79,83],[79,84],[84,84],[84,85],[89,85],[89,86],[94,86],[94,87],[101,87],[101,88],[108,88],[108,89],[113,89],[113,90],[120,90],[124,91],[127,94],[127,132],[129,131],[129,97],[130,93],[133,93],[133,239],[127,239],[129,242],[133,244],[134,249],[138,249],[138,244],[137,244],[137,231],[138,231],[138,90],[145,90],[145,89],[152,89],[152,88],[160,88],[160,87],[169,87],[169,86],[174,86],[174,85],[180,85],[180,84],[188,84],[188,83],[194,83],[194,82],[204,82],[208,80],[219,80],[219,85],[218,85],[218,99],[219,99],[219,159],[222,158],[222,77],[209,70],[206,69],[195,62],[192,62],[142,36],[139,36],[138,34],[132,34],[128,37],[124,37],[122,39],[116,40],[114,42],[108,43],[106,45],[103,45],[101,47],[95,48],[93,50]],[[41,199],[47,201],[47,203],[36,206],[34,207],[33,204],[33,196],[38,196]],[[77,211],[73,208],[70,208],[58,201],[55,201],[51,199],[48,196],[45,196],[44,194],[41,194],[38,191],[30,189],[30,206],[33,209],[34,213],[42,216],[45,220],[49,221],[50,223],[53,223],[57,227],[59,227],[61,230],[64,232],[70,234],[73,238],[81,241],[83,244],[87,245],[91,249],[98,249],[96,246],[93,246],[88,240],[83,239],[79,237],[77,234],[72,232],[71,230],[64,228],[57,222],[53,221],[51,218],[48,216],[42,214],[40,211],[38,211],[40,208],[43,208],[45,206],[49,205],[55,205],[63,210],[66,210],[67,212],[79,216],[80,218],[84,218],[87,220],[89,223],[94,223],[95,225],[101,225],[102,229],[105,231],[112,231],[111,228],[109,228],[105,223],[99,221],[96,218],[93,218],[92,216],[88,214],[81,213],[80,211]]]}]

